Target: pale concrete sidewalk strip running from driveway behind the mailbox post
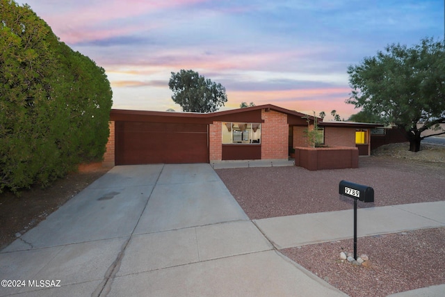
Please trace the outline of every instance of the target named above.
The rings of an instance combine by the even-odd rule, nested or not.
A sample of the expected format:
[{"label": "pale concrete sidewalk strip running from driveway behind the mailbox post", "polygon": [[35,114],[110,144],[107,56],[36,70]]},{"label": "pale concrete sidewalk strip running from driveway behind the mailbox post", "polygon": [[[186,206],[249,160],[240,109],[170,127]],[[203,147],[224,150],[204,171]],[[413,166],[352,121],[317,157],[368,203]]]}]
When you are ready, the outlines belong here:
[{"label": "pale concrete sidewalk strip running from driveway behind the mailbox post", "polygon": [[[445,201],[357,209],[357,236],[445,227],[444,214]],[[350,209],[264,218],[253,222],[275,248],[281,250],[352,238],[353,220],[354,211]]]}]

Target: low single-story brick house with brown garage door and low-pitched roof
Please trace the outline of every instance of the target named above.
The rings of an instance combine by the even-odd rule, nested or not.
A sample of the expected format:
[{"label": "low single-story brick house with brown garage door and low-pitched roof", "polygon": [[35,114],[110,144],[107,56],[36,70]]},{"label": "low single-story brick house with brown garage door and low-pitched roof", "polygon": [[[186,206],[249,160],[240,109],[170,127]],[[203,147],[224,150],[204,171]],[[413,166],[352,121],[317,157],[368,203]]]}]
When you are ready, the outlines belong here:
[{"label": "low single-story brick house with brown garage door and low-pitched roof", "polygon": [[324,145],[371,152],[369,131],[378,125],[321,122],[272,104],[215,113],[113,109],[104,163],[216,163],[288,159],[289,147],[307,147],[305,129],[317,120]]}]

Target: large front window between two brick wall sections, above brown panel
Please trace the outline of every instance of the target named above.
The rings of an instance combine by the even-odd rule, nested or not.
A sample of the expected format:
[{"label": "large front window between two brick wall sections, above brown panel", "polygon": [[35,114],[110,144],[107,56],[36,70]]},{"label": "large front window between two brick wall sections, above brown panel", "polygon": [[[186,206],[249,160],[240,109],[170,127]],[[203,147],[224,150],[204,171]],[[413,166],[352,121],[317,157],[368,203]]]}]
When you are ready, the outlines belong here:
[{"label": "large front window between two brick wall sections, above brown panel", "polygon": [[261,124],[255,122],[223,122],[223,144],[261,143]]}]

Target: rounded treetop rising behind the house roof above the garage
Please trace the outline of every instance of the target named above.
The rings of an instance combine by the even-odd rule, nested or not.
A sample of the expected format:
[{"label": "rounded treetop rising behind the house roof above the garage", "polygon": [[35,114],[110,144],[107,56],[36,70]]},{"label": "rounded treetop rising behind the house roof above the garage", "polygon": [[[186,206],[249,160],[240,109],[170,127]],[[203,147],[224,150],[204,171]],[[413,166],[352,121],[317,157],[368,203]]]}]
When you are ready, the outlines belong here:
[{"label": "rounded treetop rising behind the house roof above the garage", "polygon": [[211,113],[227,102],[225,88],[220,83],[205,79],[193,70],[172,72],[168,86],[173,91],[173,101],[186,112]]}]

